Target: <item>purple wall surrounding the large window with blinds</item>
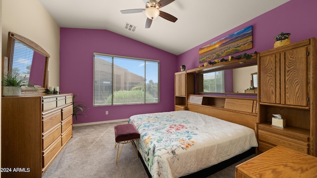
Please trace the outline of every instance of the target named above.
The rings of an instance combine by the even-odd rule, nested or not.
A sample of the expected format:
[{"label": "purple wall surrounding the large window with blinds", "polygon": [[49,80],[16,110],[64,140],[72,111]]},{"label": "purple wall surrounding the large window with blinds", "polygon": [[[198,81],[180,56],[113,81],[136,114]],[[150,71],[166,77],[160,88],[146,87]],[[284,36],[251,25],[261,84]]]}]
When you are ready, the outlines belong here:
[{"label": "purple wall surrounding the large window with blinds", "polygon": [[[159,60],[159,103],[93,107],[94,52]],[[173,110],[176,59],[174,54],[110,31],[60,28],[60,90],[62,93],[78,94],[76,101],[84,102],[89,108],[85,111],[87,117],[79,116],[77,121],[73,119],[74,124]]]}]

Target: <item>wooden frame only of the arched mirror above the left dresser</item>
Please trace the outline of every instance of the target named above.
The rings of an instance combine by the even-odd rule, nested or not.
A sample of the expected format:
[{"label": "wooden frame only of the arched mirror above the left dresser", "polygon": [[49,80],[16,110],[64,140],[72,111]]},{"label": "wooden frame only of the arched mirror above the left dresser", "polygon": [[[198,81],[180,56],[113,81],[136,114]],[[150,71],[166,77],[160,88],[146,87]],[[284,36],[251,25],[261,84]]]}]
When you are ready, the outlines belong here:
[{"label": "wooden frame only of the arched mirror above the left dresser", "polygon": [[[40,45],[36,44],[35,42],[21,36],[18,34],[15,34],[13,32],[8,33],[8,42],[7,42],[7,49],[6,49],[6,55],[8,58],[8,65],[7,65],[7,72],[12,72],[12,63],[13,63],[13,50],[14,50],[14,42],[18,41],[22,43],[23,45],[26,45],[33,49],[34,51],[38,52],[39,54],[42,54],[45,56],[45,67],[44,67],[44,80],[43,80],[43,87],[36,88],[37,91],[45,91],[48,89],[48,67],[49,67],[49,58],[51,57],[50,54],[44,50]],[[6,72],[6,71],[4,71]],[[22,94],[25,92],[30,93],[31,91],[34,91],[34,88],[29,87],[22,87]]]}]

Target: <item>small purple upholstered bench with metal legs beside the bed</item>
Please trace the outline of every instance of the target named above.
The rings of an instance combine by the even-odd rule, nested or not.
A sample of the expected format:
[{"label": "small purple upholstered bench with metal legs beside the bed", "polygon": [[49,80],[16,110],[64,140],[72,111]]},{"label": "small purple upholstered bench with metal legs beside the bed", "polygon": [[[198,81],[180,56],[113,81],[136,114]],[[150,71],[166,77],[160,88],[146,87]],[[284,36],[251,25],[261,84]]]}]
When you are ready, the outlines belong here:
[{"label": "small purple upholstered bench with metal legs beside the bed", "polygon": [[[137,155],[137,158],[138,158],[138,154],[136,152],[136,151],[138,151],[137,143],[135,144],[136,145],[136,150],[135,150],[132,142],[137,140],[137,139],[140,139],[140,133],[134,127],[133,124],[122,124],[122,125],[114,126],[114,135],[115,135],[115,145],[114,146],[116,147],[118,144],[117,159],[116,159],[115,163],[118,163],[123,145],[126,143],[131,143],[133,151]],[[121,150],[119,153],[120,143],[122,144],[122,147],[121,147]]]}]

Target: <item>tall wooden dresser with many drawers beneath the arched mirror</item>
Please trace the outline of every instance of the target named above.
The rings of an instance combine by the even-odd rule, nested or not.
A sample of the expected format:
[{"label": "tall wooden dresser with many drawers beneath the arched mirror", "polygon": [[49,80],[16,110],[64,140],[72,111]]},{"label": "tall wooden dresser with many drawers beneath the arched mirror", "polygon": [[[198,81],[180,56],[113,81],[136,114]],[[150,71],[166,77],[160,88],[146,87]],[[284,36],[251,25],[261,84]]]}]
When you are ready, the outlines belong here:
[{"label": "tall wooden dresser with many drawers beneath the arched mirror", "polygon": [[1,104],[1,177],[41,178],[72,137],[72,94],[2,97]]}]

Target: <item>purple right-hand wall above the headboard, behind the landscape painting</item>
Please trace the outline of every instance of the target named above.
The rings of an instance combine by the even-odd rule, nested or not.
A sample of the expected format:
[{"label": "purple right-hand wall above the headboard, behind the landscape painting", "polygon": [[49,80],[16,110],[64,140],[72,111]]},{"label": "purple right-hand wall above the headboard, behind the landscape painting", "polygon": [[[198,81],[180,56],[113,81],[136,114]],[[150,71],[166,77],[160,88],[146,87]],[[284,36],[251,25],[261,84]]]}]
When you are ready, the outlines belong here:
[{"label": "purple right-hand wall above the headboard, behind the landscape painting", "polygon": [[[206,43],[178,55],[175,68],[178,69],[180,65],[186,65],[186,70],[197,68],[200,65],[199,48],[250,25],[253,26],[253,48],[233,55],[271,49],[274,45],[274,37],[281,32],[291,33],[291,43],[317,37],[316,7],[317,0],[290,0]],[[224,58],[228,57],[225,56]]]}]

